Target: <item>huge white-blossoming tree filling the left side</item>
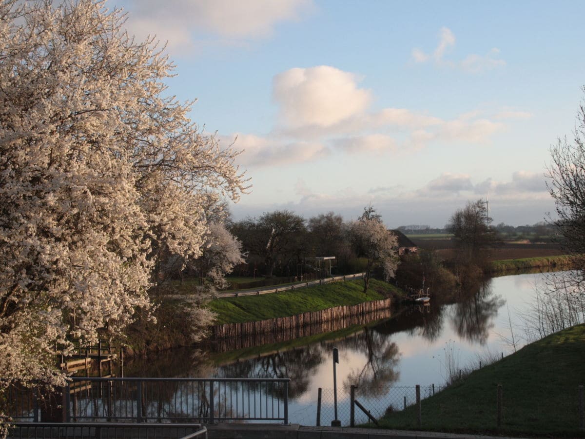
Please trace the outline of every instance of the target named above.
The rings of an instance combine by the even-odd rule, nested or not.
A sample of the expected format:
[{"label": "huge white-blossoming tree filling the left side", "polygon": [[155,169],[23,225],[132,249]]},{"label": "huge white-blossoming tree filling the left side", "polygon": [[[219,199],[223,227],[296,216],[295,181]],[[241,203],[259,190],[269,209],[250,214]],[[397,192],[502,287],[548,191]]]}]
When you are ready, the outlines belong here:
[{"label": "huge white-blossoming tree filling the left side", "polygon": [[206,191],[245,190],[122,25],[93,0],[0,1],[2,377],[59,383],[54,342],[119,333],[161,252],[200,255]]}]

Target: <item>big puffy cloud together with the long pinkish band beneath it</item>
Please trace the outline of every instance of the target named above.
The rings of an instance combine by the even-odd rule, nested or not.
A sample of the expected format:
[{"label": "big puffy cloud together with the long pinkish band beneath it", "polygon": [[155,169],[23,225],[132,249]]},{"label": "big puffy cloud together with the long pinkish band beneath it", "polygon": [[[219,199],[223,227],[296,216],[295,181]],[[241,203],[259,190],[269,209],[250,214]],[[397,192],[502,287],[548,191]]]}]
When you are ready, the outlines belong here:
[{"label": "big puffy cloud together with the long pinkish band beneath it", "polygon": [[528,116],[474,110],[444,120],[407,108],[371,111],[373,92],[359,87],[356,74],[331,66],[277,74],[273,99],[280,123],[264,136],[240,134],[236,142],[247,166],[311,162],[334,152],[407,155],[433,142],[482,145],[505,128],[504,119]]}]

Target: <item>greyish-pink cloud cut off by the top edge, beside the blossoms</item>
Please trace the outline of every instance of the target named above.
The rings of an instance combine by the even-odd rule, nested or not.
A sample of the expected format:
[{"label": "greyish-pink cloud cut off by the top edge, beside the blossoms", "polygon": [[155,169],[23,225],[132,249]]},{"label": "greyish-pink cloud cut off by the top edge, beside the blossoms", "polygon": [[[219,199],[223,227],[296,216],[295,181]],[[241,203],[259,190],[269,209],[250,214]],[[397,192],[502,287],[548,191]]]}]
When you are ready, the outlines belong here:
[{"label": "greyish-pink cloud cut off by the top edge, beside the blossoms", "polygon": [[178,52],[202,44],[201,33],[228,44],[265,37],[278,22],[299,20],[313,8],[312,0],[129,0],[127,26],[140,39],[156,34]]}]

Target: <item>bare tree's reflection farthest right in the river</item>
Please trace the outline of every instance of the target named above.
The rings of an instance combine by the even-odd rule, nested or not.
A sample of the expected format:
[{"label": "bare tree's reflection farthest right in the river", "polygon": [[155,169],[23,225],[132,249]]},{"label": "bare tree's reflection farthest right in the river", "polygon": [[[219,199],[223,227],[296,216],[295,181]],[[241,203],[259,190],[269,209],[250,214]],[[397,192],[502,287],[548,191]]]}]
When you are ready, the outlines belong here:
[{"label": "bare tree's reflection farthest right in the river", "polygon": [[494,327],[494,317],[505,300],[493,293],[491,280],[468,285],[454,306],[452,324],[463,339],[486,344],[489,331]]}]

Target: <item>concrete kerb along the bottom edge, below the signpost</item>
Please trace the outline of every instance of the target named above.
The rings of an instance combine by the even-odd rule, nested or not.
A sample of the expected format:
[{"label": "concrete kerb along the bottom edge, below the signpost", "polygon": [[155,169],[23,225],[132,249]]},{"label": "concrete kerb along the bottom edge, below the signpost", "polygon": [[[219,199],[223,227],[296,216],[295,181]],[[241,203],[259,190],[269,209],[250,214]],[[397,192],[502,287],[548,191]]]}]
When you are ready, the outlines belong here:
[{"label": "concrete kerb along the bottom edge, below the signpost", "polygon": [[[299,424],[208,425],[209,439],[495,439],[494,436],[382,430],[380,428],[308,427]],[[498,436],[497,439],[513,439]]]}]

